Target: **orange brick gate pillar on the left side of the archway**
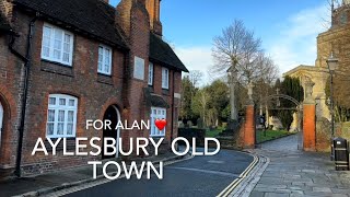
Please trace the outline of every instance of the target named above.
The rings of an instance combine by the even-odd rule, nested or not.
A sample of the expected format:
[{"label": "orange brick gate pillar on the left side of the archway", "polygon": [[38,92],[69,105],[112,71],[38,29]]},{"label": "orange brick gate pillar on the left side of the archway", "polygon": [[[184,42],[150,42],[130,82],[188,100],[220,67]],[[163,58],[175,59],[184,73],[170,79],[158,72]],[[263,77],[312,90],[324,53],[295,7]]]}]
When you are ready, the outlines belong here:
[{"label": "orange brick gate pillar on the left side of the archway", "polygon": [[245,112],[244,123],[244,148],[255,148],[255,105],[248,104]]}]

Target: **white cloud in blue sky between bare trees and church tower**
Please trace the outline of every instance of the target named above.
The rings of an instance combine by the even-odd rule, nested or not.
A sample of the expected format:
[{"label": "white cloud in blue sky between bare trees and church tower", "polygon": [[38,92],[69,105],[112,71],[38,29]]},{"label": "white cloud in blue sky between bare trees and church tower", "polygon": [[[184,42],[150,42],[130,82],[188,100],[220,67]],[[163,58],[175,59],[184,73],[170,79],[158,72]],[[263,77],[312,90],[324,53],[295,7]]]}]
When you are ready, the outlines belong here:
[{"label": "white cloud in blue sky between bare trees and church tower", "polygon": [[[328,5],[329,7],[329,5]],[[291,15],[285,25],[276,32],[273,40],[266,47],[282,72],[299,65],[314,65],[317,56],[316,37],[327,30],[329,18],[327,4],[302,10]]]}]

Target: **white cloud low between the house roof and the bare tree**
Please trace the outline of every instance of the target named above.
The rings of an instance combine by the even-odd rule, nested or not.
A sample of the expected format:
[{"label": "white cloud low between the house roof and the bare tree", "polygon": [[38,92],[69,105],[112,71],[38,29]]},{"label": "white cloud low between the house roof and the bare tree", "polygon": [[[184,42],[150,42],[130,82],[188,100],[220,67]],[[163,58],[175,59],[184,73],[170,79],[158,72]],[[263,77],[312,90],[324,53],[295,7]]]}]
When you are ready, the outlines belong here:
[{"label": "white cloud low between the house roof and the bare tree", "polygon": [[175,53],[189,71],[199,70],[203,73],[201,85],[208,84],[214,79],[212,74],[208,73],[213,66],[211,46],[176,46]]}]

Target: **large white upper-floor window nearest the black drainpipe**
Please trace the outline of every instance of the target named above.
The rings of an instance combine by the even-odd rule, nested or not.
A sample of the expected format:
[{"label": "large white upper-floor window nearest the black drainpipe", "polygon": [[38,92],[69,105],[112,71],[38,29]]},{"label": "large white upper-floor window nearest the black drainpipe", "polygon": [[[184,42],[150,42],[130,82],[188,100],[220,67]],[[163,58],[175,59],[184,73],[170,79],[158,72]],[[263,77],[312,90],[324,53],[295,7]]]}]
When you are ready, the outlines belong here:
[{"label": "large white upper-floor window nearest the black drainpipe", "polygon": [[45,23],[43,27],[42,58],[72,66],[73,34]]}]

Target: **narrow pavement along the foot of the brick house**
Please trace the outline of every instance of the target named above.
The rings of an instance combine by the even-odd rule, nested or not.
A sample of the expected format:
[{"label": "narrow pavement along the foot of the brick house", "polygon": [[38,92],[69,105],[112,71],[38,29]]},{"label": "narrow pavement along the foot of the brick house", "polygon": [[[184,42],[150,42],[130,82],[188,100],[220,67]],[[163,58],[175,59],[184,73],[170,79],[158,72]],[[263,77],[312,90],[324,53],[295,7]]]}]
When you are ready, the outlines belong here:
[{"label": "narrow pavement along the foot of the brick house", "polygon": [[[177,157],[172,152],[160,154],[158,157],[151,157],[147,159],[137,158],[132,161],[152,161],[155,164],[160,161],[168,162],[173,160],[179,160],[183,157]],[[119,162],[117,160],[117,162]],[[127,161],[125,161],[127,162]],[[108,172],[114,172],[116,169],[110,165]],[[34,177],[23,177],[18,179],[9,179],[0,182],[0,197],[8,197],[14,195],[22,195],[25,193],[31,193],[31,196],[36,196],[38,194],[47,194],[49,192],[59,190],[62,188],[68,188],[71,186],[81,185],[84,183],[93,182],[93,167],[92,165],[85,165],[81,167],[74,167],[47,174],[37,175]],[[98,175],[102,175],[102,166],[97,167],[97,179]]]}]

